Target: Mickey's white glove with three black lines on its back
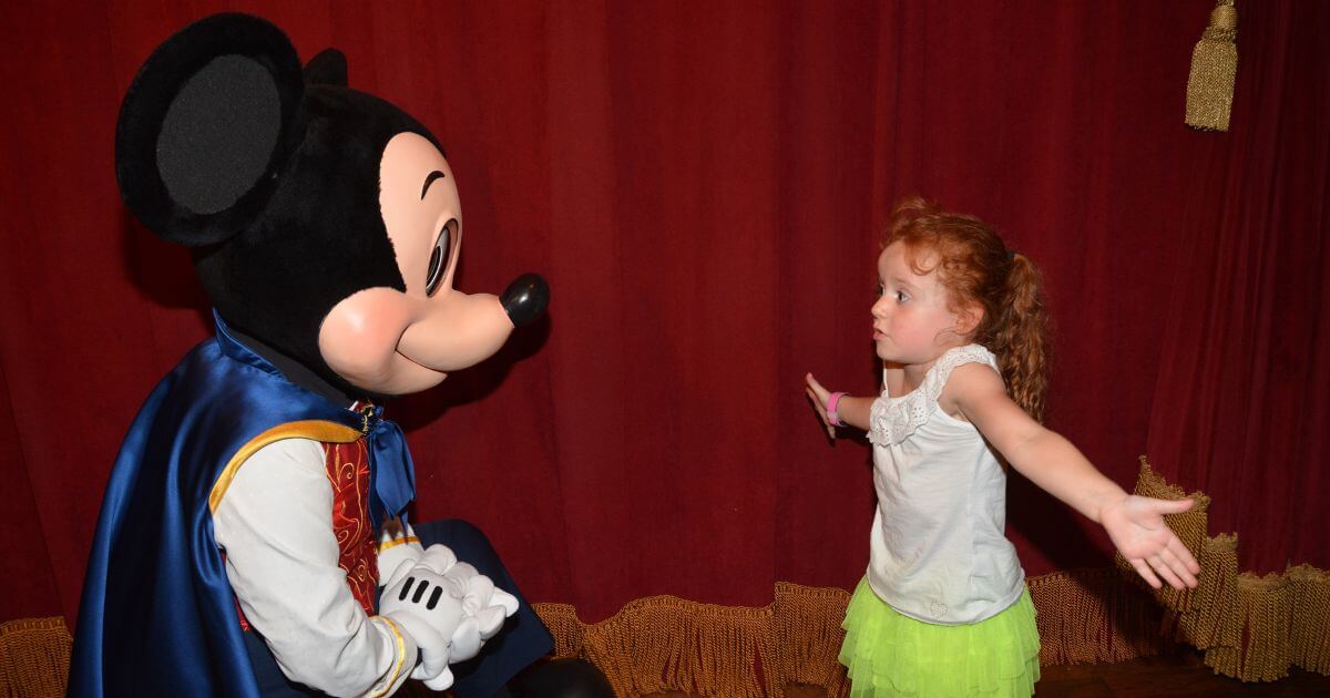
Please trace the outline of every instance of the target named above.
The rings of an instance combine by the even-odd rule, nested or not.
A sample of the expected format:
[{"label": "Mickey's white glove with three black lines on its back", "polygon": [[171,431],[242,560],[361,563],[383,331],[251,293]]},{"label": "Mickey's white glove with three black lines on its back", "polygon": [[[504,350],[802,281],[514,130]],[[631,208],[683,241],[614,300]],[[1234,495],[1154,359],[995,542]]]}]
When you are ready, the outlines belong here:
[{"label": "Mickey's white glove with three black lines on its back", "polygon": [[516,597],[443,545],[431,545],[419,561],[403,560],[379,602],[379,613],[402,624],[420,647],[411,678],[436,691],[452,686],[448,665],[479,654],[516,612]]}]

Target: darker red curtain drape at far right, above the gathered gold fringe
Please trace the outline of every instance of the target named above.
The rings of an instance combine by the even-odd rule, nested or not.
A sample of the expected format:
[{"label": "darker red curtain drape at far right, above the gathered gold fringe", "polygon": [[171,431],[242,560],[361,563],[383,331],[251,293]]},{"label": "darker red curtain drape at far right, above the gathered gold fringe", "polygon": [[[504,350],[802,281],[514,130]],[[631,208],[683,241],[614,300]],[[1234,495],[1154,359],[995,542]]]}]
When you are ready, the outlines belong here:
[{"label": "darker red curtain drape at far right, above the gathered gold fringe", "polygon": [[[1193,134],[1146,452],[1204,489],[1241,569],[1311,562],[1330,456],[1330,24],[1321,3],[1240,7],[1229,133]],[[1245,51],[1244,51],[1245,49]]]}]

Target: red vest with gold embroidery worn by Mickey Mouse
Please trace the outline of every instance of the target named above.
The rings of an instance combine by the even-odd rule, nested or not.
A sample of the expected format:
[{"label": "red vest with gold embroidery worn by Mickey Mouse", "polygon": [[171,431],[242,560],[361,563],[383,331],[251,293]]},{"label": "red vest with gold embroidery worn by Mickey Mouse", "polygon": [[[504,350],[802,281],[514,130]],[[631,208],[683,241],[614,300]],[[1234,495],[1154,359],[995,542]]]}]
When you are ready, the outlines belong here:
[{"label": "red vest with gold embroidery worn by Mickey Mouse", "polygon": [[[348,444],[323,443],[323,467],[332,485],[332,534],[338,545],[338,566],[346,572],[346,585],[367,616],[374,616],[374,596],[379,586],[378,536],[370,519],[370,453],[364,437]],[[235,612],[241,628],[250,629],[239,604]]]}]

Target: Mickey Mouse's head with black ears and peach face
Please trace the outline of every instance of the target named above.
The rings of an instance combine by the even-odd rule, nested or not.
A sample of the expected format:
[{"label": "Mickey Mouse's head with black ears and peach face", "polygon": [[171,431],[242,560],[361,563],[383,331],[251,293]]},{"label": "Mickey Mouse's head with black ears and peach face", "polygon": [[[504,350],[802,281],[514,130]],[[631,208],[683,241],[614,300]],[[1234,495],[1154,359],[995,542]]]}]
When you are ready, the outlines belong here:
[{"label": "Mickey Mouse's head with black ears and peach face", "polygon": [[145,226],[193,250],[229,324],[346,392],[416,392],[497,351],[548,287],[452,287],[464,226],[447,157],[346,73],[331,49],[302,69],[258,17],[200,20],[130,85],[117,181]]}]

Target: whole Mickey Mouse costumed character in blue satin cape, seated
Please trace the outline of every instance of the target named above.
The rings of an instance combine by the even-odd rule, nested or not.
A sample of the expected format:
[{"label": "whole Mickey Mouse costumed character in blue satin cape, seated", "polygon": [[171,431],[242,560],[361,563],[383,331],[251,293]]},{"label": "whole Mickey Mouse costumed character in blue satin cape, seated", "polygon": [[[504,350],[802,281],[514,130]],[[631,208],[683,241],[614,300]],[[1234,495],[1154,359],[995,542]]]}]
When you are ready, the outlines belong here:
[{"label": "whole Mickey Mouse costumed character in blue satin cape, seated", "polygon": [[[408,677],[492,695],[551,649],[479,532],[407,520],[414,467],[380,404],[495,354],[548,289],[452,287],[443,149],[346,85],[340,53],[302,70],[277,27],[215,15],[129,88],[121,193],[193,250],[217,334],[121,447],[70,695],[384,695]],[[584,662],[537,666],[509,687],[608,694]]]}]

